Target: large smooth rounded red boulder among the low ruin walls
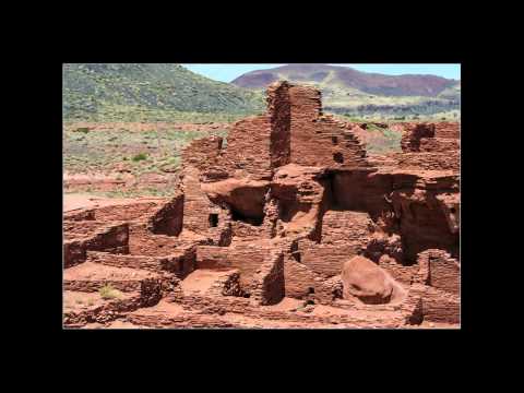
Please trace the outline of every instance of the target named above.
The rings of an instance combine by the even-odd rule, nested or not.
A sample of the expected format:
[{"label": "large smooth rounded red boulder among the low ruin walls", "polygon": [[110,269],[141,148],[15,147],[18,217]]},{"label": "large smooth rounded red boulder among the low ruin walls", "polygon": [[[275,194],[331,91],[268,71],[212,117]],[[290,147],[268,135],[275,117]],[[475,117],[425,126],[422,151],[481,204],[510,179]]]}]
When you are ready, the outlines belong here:
[{"label": "large smooth rounded red boulder among the low ruin walls", "polygon": [[356,297],[368,305],[389,303],[404,296],[404,289],[386,271],[360,255],[344,263],[342,283],[345,299]]}]

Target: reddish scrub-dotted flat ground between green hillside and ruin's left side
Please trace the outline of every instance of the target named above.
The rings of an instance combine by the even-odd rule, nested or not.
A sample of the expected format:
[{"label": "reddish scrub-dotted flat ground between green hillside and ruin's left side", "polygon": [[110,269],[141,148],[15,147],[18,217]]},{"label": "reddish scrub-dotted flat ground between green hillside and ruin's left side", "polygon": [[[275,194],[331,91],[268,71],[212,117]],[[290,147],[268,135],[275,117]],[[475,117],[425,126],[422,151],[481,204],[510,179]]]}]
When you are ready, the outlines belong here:
[{"label": "reddish scrub-dotted flat ground between green hillside and ruin's left side", "polygon": [[193,139],[225,138],[228,127],[217,122],[64,124],[64,190],[116,198],[169,195],[182,148]]}]

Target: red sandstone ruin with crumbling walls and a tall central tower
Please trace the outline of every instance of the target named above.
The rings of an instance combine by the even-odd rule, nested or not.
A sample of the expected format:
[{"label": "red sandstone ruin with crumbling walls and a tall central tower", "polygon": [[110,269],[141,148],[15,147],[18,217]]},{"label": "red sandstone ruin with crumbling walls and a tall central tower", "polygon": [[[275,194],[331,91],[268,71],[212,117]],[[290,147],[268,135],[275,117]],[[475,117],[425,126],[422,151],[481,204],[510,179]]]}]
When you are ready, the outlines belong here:
[{"label": "red sandstone ruin with crumbling walls and a tall central tower", "polygon": [[458,326],[458,124],[406,123],[388,157],[355,127],[278,82],[183,151],[174,198],[66,214],[64,325]]}]

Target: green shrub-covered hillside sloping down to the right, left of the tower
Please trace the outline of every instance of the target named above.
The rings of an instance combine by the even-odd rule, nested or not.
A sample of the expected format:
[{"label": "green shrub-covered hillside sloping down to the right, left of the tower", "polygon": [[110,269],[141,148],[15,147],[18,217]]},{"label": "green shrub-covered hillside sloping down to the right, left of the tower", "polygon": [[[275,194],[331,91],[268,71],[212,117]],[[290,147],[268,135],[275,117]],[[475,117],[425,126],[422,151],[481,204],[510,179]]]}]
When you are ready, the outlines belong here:
[{"label": "green shrub-covered hillside sloping down to the right, left of the tower", "polygon": [[263,94],[195,74],[179,64],[74,63],[63,66],[63,118],[165,119],[178,112],[250,115]]}]

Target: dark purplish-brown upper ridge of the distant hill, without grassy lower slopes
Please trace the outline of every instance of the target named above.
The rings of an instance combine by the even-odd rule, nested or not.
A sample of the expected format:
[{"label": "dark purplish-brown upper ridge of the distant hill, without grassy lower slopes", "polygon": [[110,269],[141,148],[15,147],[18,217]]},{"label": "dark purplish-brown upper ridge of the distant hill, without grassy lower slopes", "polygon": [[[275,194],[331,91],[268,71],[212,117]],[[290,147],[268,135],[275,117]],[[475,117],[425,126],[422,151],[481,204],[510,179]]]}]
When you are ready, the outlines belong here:
[{"label": "dark purplish-brown upper ridge of the distant hill, without grassy lower slopes", "polygon": [[310,82],[338,88],[354,88],[381,96],[436,97],[457,81],[436,75],[384,75],[360,72],[347,67],[326,64],[287,64],[269,70],[248,72],[231,83],[249,88],[264,88],[277,80]]}]

